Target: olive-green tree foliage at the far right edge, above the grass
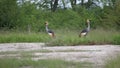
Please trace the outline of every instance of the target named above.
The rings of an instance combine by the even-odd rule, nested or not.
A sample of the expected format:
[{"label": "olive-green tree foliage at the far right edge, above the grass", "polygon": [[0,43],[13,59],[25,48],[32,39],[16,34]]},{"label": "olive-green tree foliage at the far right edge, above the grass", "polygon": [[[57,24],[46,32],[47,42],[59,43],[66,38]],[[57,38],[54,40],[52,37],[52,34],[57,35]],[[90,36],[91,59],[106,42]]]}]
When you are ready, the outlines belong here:
[{"label": "olive-green tree foliage at the far right edge, above the grass", "polygon": [[112,8],[111,6],[104,6],[103,11],[103,25],[105,27],[120,28],[120,1],[116,0]]}]

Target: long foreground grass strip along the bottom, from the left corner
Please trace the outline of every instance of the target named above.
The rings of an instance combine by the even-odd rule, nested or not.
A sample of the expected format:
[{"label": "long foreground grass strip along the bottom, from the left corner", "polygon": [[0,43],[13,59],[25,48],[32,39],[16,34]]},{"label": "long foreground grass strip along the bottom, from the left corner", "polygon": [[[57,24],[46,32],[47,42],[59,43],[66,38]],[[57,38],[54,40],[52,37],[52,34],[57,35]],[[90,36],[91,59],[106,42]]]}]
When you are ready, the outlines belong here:
[{"label": "long foreground grass strip along the bottom, from the left corner", "polygon": [[0,58],[0,68],[88,68],[90,63],[68,62],[58,59],[38,60],[31,59],[15,59],[15,58]]}]

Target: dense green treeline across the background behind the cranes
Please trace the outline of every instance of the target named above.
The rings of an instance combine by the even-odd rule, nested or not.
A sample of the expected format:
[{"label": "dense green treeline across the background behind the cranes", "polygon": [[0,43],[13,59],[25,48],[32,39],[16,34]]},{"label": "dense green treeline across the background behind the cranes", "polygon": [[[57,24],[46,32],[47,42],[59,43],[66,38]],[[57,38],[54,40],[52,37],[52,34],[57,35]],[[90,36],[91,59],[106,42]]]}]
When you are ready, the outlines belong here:
[{"label": "dense green treeline across the background behind the cranes", "polygon": [[93,29],[119,30],[119,12],[120,0],[0,0],[0,29],[43,31],[45,21],[54,29],[81,29],[89,18]]}]

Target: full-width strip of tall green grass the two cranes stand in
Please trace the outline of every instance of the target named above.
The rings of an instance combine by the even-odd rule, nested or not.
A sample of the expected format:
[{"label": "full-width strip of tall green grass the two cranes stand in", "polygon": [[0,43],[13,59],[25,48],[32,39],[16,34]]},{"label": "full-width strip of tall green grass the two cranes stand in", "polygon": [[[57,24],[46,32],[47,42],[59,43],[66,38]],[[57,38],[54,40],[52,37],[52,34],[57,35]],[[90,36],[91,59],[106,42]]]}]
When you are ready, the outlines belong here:
[{"label": "full-width strip of tall green grass the two cranes stand in", "polygon": [[120,32],[115,30],[91,30],[86,37],[81,38],[78,37],[79,33],[78,30],[56,30],[56,37],[50,38],[46,32],[2,32],[0,33],[0,43],[45,42],[49,46],[120,44]]}]

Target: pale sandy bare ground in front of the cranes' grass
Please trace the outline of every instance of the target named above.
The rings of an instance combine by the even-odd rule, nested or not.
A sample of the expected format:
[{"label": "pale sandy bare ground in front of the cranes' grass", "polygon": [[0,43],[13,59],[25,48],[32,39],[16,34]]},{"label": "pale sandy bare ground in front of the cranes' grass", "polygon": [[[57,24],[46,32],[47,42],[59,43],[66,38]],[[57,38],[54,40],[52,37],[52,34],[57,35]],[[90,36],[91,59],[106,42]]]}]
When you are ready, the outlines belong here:
[{"label": "pale sandy bare ground in front of the cranes' grass", "polygon": [[[43,50],[48,52],[39,52]],[[95,68],[102,68],[104,62],[120,54],[119,45],[78,45],[78,46],[45,46],[44,43],[4,43],[0,44],[0,53],[13,51],[36,51],[32,55],[33,60],[39,59],[63,59],[75,62],[90,62]],[[5,56],[17,56],[17,54],[0,54],[0,58]]]}]

